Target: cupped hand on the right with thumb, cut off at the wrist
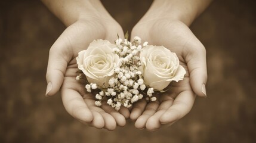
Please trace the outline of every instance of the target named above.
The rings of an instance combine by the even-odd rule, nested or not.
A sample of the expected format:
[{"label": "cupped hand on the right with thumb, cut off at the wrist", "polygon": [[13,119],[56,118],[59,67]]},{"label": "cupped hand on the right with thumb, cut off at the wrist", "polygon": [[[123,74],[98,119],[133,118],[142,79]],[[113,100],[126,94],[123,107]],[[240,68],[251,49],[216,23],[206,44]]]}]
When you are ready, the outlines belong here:
[{"label": "cupped hand on the right with thumb, cut off at the wrist", "polygon": [[149,45],[163,45],[175,52],[187,73],[183,80],[171,82],[168,91],[155,102],[138,101],[130,118],[138,129],[156,130],[171,125],[191,110],[196,95],[206,97],[206,51],[186,24],[166,18],[144,18],[132,30]]}]

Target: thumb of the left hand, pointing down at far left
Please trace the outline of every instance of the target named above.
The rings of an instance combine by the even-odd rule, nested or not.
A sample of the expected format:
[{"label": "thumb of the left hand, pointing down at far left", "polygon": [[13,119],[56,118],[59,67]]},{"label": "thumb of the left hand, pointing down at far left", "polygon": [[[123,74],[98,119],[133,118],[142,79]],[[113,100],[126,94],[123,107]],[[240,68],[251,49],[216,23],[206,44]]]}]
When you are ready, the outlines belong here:
[{"label": "thumb of the left hand, pointing down at far left", "polygon": [[56,94],[63,83],[67,63],[72,58],[72,51],[70,51],[67,43],[66,38],[61,35],[51,46],[46,74],[47,90],[45,96],[47,97]]}]

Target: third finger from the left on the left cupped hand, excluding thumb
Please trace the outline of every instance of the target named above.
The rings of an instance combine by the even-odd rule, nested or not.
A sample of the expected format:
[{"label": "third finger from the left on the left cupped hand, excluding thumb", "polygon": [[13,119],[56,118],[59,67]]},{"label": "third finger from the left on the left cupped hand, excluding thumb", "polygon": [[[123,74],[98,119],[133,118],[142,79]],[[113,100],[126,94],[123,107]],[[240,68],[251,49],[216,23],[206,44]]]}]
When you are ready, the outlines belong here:
[{"label": "third finger from the left on the left cupped hand, excluding thumb", "polygon": [[107,130],[115,130],[116,129],[116,121],[110,114],[106,112],[100,112],[101,116],[104,119],[104,128]]}]

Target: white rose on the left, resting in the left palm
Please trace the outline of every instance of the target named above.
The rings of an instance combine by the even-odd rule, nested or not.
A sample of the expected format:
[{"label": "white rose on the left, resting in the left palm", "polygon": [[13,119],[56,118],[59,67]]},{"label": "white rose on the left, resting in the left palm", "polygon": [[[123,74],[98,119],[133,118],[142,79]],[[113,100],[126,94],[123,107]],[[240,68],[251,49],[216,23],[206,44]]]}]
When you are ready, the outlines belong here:
[{"label": "white rose on the left, resting in the left palm", "polygon": [[115,67],[119,66],[119,56],[112,51],[115,47],[109,41],[97,40],[78,53],[78,69],[83,71],[88,82],[98,86],[104,84],[103,88],[109,87],[109,79],[113,76]]}]

